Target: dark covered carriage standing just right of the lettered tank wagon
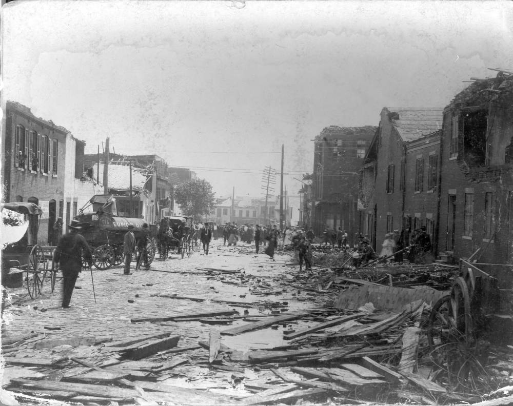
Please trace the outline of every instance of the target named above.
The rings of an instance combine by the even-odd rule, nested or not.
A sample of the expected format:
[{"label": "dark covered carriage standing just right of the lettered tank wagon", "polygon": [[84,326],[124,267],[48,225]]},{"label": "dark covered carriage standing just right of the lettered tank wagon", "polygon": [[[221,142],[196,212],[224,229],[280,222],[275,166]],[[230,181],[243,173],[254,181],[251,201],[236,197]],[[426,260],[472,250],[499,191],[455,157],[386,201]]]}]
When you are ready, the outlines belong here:
[{"label": "dark covered carriage standing just right of the lettered tank wagon", "polygon": [[[159,231],[159,252],[161,259],[167,258],[169,252],[176,251],[182,255],[190,257],[193,252],[200,250],[198,235],[192,228],[192,218],[188,216],[165,216],[161,220],[161,230]],[[169,227],[169,232],[164,233],[163,227]],[[180,226],[184,224],[183,230]]]}]

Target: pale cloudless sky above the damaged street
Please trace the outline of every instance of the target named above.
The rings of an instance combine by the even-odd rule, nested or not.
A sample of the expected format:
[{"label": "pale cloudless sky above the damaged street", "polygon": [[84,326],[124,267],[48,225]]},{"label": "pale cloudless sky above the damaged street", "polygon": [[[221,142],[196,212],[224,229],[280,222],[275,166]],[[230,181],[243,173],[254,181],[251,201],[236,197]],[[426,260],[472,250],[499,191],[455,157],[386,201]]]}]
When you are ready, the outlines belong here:
[{"label": "pale cloudless sky above the damaged street", "polygon": [[[313,138],[383,107],[445,107],[513,69],[510,2],[20,1],[2,9],[2,106],[116,153],[191,168],[216,196],[301,188]],[[279,194],[277,184],[276,194]]]}]

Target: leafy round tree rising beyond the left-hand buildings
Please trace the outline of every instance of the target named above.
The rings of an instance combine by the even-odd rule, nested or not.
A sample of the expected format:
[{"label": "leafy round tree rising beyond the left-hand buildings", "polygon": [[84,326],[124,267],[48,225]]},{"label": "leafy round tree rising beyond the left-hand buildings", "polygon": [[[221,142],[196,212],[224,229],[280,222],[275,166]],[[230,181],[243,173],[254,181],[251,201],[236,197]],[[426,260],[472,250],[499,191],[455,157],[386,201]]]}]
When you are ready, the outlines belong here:
[{"label": "leafy round tree rising beyond the left-hand buildings", "polygon": [[174,189],[176,203],[186,216],[208,216],[215,205],[212,185],[205,179],[191,179]]}]

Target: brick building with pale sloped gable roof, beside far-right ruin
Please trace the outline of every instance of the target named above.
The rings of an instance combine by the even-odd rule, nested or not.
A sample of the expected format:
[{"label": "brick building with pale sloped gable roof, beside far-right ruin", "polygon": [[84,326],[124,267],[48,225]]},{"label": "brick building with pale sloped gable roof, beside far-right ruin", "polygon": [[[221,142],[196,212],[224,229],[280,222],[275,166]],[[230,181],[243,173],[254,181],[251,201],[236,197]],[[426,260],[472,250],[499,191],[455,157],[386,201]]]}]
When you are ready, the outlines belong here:
[{"label": "brick building with pale sloped gable roof, beside far-right ruin", "polygon": [[[431,155],[439,155],[441,108],[383,108],[360,171],[359,227],[372,247],[381,249],[385,234],[429,226],[435,233],[438,184]],[[434,170],[434,172],[433,172]],[[408,198],[407,198],[408,197]]]}]

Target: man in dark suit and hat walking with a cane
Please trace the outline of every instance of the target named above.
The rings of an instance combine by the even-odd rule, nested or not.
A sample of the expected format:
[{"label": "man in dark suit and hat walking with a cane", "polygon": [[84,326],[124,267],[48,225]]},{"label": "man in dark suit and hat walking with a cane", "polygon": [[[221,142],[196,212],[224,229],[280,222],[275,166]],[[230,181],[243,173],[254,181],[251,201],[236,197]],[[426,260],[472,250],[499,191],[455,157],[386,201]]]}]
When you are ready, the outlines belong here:
[{"label": "man in dark suit and hat walking with a cane", "polygon": [[63,272],[63,309],[69,308],[76,278],[82,271],[82,256],[89,267],[92,265],[91,250],[87,241],[81,234],[78,234],[83,226],[78,221],[72,220],[69,228],[69,233],[63,235],[58,242],[53,257],[55,267],[60,267]]}]

